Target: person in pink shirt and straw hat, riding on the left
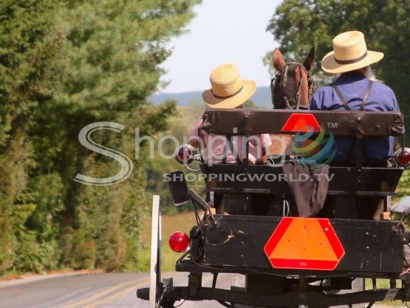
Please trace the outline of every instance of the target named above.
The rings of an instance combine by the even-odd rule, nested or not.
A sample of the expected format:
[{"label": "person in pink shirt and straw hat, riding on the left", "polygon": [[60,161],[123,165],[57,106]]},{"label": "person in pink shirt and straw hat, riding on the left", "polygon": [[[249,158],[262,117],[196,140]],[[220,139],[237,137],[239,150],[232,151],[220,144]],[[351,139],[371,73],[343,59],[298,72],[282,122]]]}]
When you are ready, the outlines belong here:
[{"label": "person in pink shirt and straw hat, riding on the left", "polygon": [[[211,89],[202,93],[203,101],[211,108],[243,108],[243,104],[255,93],[254,81],[242,80],[235,65],[223,64],[210,75]],[[241,164],[246,156],[249,141],[248,163],[266,162],[267,149],[272,144],[269,134],[259,136],[223,136],[200,130],[202,114],[190,131],[192,146],[203,149],[204,161],[209,164]],[[234,132],[235,127],[232,127]]]}]

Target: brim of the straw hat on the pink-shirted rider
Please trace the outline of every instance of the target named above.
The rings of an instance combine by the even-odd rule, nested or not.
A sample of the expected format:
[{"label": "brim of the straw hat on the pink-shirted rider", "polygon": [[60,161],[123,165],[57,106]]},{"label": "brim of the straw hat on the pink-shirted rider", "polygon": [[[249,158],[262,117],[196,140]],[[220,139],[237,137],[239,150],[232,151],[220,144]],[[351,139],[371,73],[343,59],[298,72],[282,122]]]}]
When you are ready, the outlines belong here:
[{"label": "brim of the straw hat on the pink-shirted rider", "polygon": [[214,97],[212,89],[203,91],[203,101],[212,108],[236,108],[249,100],[256,91],[256,83],[251,80],[242,80],[242,90],[226,99]]}]

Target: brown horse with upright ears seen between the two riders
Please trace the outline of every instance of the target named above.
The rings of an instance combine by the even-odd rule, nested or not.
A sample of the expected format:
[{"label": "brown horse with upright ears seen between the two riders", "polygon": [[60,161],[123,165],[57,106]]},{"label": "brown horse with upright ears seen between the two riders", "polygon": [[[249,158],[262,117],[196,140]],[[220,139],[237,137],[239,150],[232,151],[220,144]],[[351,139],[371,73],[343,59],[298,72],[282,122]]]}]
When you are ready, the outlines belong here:
[{"label": "brown horse with upright ears seen between the two riders", "polygon": [[[277,70],[271,82],[274,109],[309,109],[309,103],[316,90],[310,70],[315,61],[315,47],[303,63],[286,62],[278,48],[272,54],[272,64]],[[271,155],[283,155],[293,140],[291,135],[272,135]]]}]

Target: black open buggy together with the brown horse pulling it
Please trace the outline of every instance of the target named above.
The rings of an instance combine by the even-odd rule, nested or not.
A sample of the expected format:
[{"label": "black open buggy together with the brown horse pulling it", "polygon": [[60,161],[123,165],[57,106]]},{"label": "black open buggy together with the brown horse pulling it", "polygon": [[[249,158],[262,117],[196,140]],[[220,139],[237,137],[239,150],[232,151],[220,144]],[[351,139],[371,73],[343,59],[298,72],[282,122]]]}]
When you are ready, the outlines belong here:
[{"label": "black open buggy together with the brown horse pulling it", "polygon": [[[150,308],[171,308],[179,300],[215,300],[228,308],[364,303],[370,308],[378,301],[410,301],[410,233],[404,225],[410,197],[392,204],[410,165],[403,115],[364,111],[372,82],[365,84],[358,111],[308,110],[316,89],[309,73],[313,60],[314,49],[303,64],[285,63],[275,49],[273,110],[203,113],[199,129],[226,136],[232,152],[228,141],[247,137],[242,160],[209,164],[200,147],[177,149],[175,158],[183,165],[200,163],[207,198],[188,188],[182,171],[167,175],[174,204],[191,202],[197,221],[189,235],[176,232],[170,238],[171,248],[182,253],[176,271],[189,273],[187,286],[174,286],[172,279],[161,280],[159,197],[154,197],[151,284],[137,291]],[[235,76],[228,86],[236,84]],[[218,74],[215,80],[220,79]],[[220,94],[207,93],[220,100]],[[249,139],[267,133],[282,140],[285,150],[271,151],[262,164],[250,163]],[[393,138],[400,141],[393,157],[376,164],[366,160],[368,140]],[[351,142],[347,156],[354,159],[337,163],[336,140],[343,139]],[[211,287],[202,286],[203,273],[213,275]],[[216,287],[220,273],[231,274],[230,290]],[[380,278],[389,281],[388,288],[378,287]],[[365,287],[365,280],[372,285]]]}]

